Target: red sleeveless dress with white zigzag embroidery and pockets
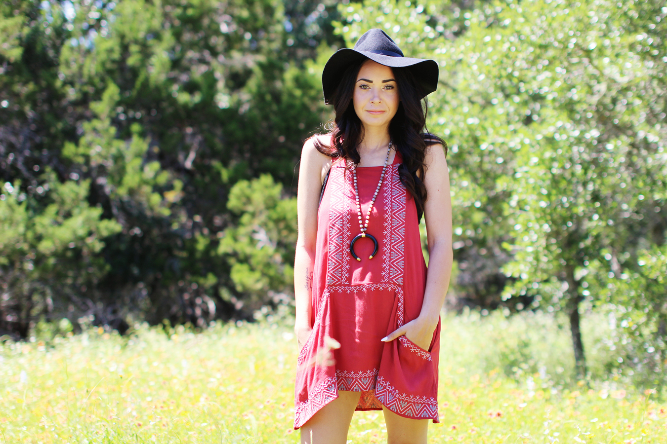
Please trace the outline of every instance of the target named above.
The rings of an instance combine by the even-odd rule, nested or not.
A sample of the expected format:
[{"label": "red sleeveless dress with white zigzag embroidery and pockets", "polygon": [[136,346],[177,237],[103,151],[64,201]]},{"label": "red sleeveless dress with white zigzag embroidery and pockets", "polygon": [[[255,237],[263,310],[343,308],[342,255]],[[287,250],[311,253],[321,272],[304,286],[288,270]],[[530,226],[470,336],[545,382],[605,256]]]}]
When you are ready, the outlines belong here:
[{"label": "red sleeveless dress with white zigzag embroidery and pockets", "polygon": [[[294,428],[338,397],[338,390],[361,391],[357,410],[381,410],[433,419],[438,423],[438,353],[440,322],[430,351],[405,336],[380,339],[422,310],[426,264],[417,210],[398,176],[400,154],[388,166],[376,198],[368,233],[373,242],[350,241],[359,234],[352,170],[343,159],[331,166],[317,214],[317,251],[313,273],[313,331],[299,353]],[[382,166],[357,168],[359,198],[366,217]],[[340,348],[331,348],[336,339]]]}]

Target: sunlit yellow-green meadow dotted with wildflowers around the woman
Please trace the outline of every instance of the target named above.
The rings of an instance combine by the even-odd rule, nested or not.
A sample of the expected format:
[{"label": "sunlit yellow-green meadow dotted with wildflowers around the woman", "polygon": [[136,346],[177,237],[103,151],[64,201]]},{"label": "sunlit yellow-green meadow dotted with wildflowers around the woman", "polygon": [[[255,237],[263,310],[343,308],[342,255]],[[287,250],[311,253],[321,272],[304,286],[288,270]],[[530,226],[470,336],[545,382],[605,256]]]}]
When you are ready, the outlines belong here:
[{"label": "sunlit yellow-green meadow dotted with wildflowers around the woman", "polygon": [[[667,403],[652,391],[618,377],[568,382],[567,335],[548,318],[489,318],[444,320],[442,423],[430,425],[430,442],[667,442]],[[0,444],[295,443],[289,330],[267,322],[203,333],[138,328],[129,337],[95,329],[6,342]],[[349,439],[386,442],[382,413],[357,412]]]}]

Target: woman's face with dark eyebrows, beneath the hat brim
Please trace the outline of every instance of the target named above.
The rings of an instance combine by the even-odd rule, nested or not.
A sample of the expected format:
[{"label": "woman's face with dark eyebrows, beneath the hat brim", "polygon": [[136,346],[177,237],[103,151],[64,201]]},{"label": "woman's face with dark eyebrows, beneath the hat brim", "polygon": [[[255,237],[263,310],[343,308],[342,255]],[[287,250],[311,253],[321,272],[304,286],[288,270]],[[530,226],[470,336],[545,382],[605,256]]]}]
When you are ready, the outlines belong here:
[{"label": "woman's face with dark eyebrows, beneath the hat brim", "polygon": [[357,75],[352,102],[365,128],[389,126],[400,102],[392,69],[366,61]]}]

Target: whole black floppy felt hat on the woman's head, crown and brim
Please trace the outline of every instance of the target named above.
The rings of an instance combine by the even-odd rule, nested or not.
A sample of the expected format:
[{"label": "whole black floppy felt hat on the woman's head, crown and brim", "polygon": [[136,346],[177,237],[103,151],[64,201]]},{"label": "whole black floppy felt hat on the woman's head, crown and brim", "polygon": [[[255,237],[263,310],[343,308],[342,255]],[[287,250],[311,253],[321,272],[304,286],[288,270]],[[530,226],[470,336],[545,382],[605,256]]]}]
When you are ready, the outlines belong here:
[{"label": "whole black floppy felt hat on the woman's head, crown and brim", "polygon": [[362,59],[371,59],[390,68],[408,68],[421,88],[423,99],[438,88],[438,62],[429,59],[404,57],[403,51],[382,29],[369,29],[359,38],[353,49],[343,48],[333,53],[322,70],[324,103],[336,91],[341,77],[350,65]]}]

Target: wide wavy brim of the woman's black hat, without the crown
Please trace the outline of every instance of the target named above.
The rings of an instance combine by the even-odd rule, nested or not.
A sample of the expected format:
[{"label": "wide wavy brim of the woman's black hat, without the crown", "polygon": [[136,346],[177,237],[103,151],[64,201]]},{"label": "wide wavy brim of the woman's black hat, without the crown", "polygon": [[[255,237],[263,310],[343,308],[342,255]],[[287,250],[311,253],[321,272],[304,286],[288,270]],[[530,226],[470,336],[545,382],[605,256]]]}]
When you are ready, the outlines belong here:
[{"label": "wide wavy brim of the woman's black hat, without the crown", "polygon": [[372,51],[358,51],[352,48],[343,48],[333,53],[322,70],[322,91],[324,102],[331,103],[333,93],[341,81],[343,73],[353,63],[364,58],[371,59],[390,68],[408,68],[418,81],[420,90],[419,99],[424,99],[438,88],[438,62],[430,59],[413,59],[412,57],[394,57],[392,55],[375,53]]}]

